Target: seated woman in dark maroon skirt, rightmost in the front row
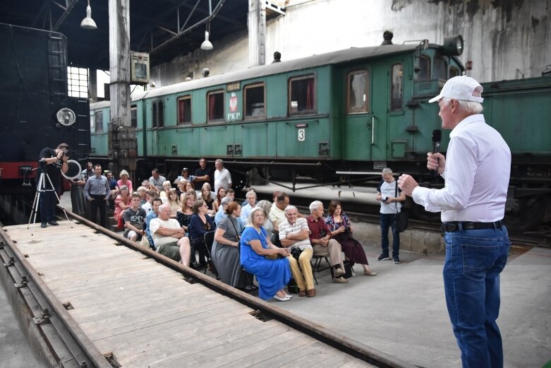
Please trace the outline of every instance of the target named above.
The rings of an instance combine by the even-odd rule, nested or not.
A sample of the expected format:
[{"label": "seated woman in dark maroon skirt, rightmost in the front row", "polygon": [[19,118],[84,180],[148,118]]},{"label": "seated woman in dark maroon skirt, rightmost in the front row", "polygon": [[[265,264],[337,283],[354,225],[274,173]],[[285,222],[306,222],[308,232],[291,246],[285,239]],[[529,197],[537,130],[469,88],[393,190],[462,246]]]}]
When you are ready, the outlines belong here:
[{"label": "seated woman in dark maroon skirt, rightmost in the front row", "polygon": [[349,217],[342,212],[341,202],[331,201],[328,212],[325,223],[331,230],[331,236],[341,244],[344,256],[351,262],[351,267],[354,263],[360,263],[363,266],[364,275],[377,275],[369,268],[368,256],[365,255],[362,244],[352,237],[353,228]]}]

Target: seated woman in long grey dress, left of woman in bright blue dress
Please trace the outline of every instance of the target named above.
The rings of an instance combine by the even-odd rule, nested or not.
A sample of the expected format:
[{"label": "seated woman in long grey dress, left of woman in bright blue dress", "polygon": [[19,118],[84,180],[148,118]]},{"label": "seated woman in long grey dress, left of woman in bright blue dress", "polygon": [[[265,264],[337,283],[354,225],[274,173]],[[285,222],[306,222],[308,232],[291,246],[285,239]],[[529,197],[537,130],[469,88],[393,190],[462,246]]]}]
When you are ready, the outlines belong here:
[{"label": "seated woman in long grey dress, left of woman in bright blue dress", "polygon": [[226,205],[226,218],[217,224],[211,256],[222,283],[246,289],[250,286],[250,279],[247,280],[248,275],[243,273],[239,262],[239,235],[242,229],[237,219],[240,215],[239,203]]}]

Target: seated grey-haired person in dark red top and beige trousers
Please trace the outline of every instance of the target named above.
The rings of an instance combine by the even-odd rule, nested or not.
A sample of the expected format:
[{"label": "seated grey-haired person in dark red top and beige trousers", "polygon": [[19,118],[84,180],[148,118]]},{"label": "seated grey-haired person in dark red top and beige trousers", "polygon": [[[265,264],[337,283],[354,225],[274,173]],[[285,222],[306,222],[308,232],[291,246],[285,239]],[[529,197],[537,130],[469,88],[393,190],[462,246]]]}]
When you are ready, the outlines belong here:
[{"label": "seated grey-haired person in dark red top and beige trousers", "polygon": [[323,203],[313,201],[310,203],[310,215],[306,218],[310,229],[310,244],[314,249],[314,256],[328,256],[329,264],[333,268],[334,283],[348,283],[343,278],[344,264],[341,257],[341,244],[331,239],[331,230],[323,220]]}]

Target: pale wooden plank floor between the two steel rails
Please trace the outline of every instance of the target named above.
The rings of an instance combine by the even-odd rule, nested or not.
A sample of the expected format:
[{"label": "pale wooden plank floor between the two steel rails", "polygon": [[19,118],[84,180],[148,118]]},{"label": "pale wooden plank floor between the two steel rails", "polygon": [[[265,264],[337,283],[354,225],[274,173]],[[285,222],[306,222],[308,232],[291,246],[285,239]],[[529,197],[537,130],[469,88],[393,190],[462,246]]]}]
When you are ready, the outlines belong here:
[{"label": "pale wooden plank floor between the two steel rails", "polygon": [[4,227],[100,352],[134,367],[373,367],[85,225]]}]

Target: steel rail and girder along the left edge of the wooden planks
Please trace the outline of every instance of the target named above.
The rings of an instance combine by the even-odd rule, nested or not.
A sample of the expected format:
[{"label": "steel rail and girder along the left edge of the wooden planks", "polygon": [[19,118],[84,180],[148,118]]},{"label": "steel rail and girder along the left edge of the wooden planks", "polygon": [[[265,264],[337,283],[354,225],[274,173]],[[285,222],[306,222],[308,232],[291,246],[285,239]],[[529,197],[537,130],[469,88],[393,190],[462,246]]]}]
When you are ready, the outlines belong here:
[{"label": "steel rail and girder along the left edge of the wooden planks", "polygon": [[[68,314],[63,304],[32,268],[4,229],[0,231],[0,242],[1,249],[6,255],[4,259],[4,254],[0,253],[4,259],[3,266],[14,281],[20,279],[19,283],[13,285],[25,299],[28,313],[34,316],[33,321],[40,329],[44,343],[59,367],[113,368]],[[23,289],[30,292],[22,292]],[[40,308],[37,309],[36,305]],[[42,313],[37,314],[37,311]],[[72,358],[67,357],[66,353],[72,355]]]}]

